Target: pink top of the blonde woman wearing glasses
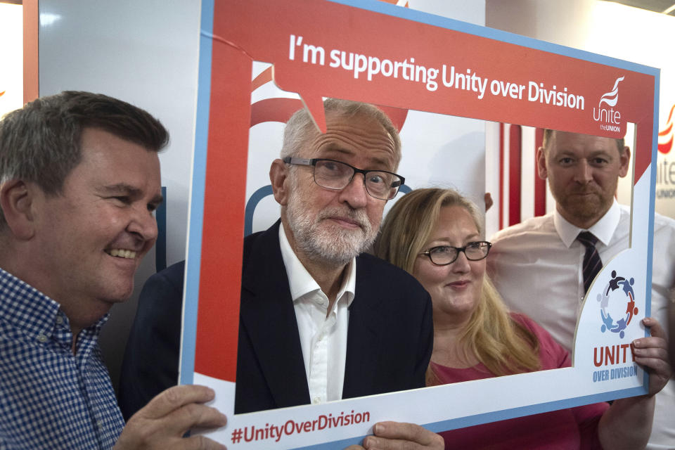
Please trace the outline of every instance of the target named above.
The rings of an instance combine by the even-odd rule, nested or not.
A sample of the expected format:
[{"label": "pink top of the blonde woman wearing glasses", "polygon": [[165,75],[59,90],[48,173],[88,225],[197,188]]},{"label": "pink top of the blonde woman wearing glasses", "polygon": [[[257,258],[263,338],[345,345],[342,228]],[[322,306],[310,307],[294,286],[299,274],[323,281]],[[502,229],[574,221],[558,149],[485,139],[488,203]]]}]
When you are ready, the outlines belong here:
[{"label": "pink top of the blonde woman wearing glasses", "polygon": [[[541,370],[570,366],[570,354],[544,328],[524,314],[512,313],[511,316],[539,340]],[[432,362],[430,368],[437,378],[437,383],[431,385],[494,377],[483,364],[451,368]],[[607,403],[596,403],[439,434],[445,440],[446,449],[601,449],[598,422],[608,408]]]}]

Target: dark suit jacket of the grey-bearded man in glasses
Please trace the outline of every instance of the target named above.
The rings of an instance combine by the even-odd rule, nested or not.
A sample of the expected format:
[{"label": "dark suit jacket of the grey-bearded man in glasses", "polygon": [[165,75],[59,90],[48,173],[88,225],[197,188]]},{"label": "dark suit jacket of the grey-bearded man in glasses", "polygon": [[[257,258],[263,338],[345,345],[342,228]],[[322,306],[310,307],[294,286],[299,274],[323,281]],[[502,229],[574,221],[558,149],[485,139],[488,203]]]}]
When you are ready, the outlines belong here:
[{"label": "dark suit jacket of the grey-bearded man in glasses", "polygon": [[[310,402],[295,309],[279,246],[279,226],[277,222],[267,231],[244,240],[236,413]],[[148,319],[169,325],[171,321],[158,316],[174,315],[177,311],[180,321],[181,300],[179,295],[176,302],[176,294],[182,291],[182,269],[179,263],[156,274],[141,293],[120,383],[120,403],[125,414],[131,413],[127,404],[134,404],[136,409],[142,407],[152,398],[148,397],[150,394],[176,383],[180,328],[172,330],[174,340],[167,345],[166,330],[159,330]],[[168,276],[172,276],[171,281]],[[176,282],[176,276],[180,283]],[[169,304],[167,297],[162,299],[160,295],[172,297]],[[149,298],[153,300],[148,301]],[[146,309],[152,312],[147,314]],[[143,342],[136,339],[140,333],[146,334]],[[150,336],[153,334],[158,339]],[[405,271],[381,259],[371,255],[357,257],[342,397],[423,387],[432,336],[431,300],[422,286]],[[143,354],[139,354],[139,346],[143,347]],[[157,358],[164,361],[155,361]],[[171,371],[167,366],[172,366]],[[156,370],[164,373],[153,376]],[[173,383],[167,385],[166,380],[172,377]],[[143,394],[143,398],[136,394],[128,396],[129,392]]]}]

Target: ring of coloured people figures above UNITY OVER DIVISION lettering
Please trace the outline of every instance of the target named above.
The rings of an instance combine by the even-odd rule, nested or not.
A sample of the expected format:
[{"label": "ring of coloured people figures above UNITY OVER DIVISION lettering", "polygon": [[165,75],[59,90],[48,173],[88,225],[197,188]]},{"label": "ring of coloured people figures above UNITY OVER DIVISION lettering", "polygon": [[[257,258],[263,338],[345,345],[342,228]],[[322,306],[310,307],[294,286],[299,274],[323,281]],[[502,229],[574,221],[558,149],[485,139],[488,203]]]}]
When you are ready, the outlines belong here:
[{"label": "ring of coloured people figures above UNITY OVER DIVISION lettering", "polygon": [[598,294],[600,302],[600,317],[603,319],[603,326],[600,330],[619,333],[619,338],[624,338],[624,330],[631,323],[633,316],[638,314],[638,308],[635,306],[635,293],[633,285],[635,278],[626,278],[617,276],[617,271],[612,271],[612,279],[603,289],[603,293]]}]

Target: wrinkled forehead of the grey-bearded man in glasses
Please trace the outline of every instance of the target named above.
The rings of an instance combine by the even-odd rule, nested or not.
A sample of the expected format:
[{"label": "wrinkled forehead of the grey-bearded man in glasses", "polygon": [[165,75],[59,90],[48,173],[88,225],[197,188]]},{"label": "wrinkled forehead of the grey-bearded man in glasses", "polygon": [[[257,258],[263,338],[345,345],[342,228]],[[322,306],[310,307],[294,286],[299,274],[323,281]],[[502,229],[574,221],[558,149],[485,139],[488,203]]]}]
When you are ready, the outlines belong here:
[{"label": "wrinkled forehead of the grey-bearded man in glasses", "polygon": [[302,153],[311,158],[359,159],[368,164],[361,168],[390,171],[397,169],[400,160],[394,139],[378,120],[339,113],[326,114],[326,133],[314,129]]}]

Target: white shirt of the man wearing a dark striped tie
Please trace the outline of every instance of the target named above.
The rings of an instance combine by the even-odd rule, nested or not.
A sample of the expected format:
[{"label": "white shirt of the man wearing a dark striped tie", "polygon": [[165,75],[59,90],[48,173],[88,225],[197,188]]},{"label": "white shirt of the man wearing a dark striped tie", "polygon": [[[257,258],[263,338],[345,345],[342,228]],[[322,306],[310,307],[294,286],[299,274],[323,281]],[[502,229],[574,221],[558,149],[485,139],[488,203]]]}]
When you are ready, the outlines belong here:
[{"label": "white shirt of the man wearing a dark striped tie", "polygon": [[[628,248],[630,211],[614,202],[589,231],[603,264]],[[584,298],[584,245],[577,226],[555,211],[492,237],[488,271],[504,302],[532,317],[571,351]],[[669,290],[675,285],[675,220],[655,214],[651,315],[668,333]],[[648,449],[675,448],[675,381],[657,394]]]}]

